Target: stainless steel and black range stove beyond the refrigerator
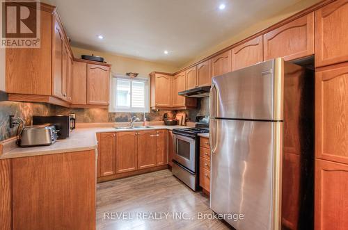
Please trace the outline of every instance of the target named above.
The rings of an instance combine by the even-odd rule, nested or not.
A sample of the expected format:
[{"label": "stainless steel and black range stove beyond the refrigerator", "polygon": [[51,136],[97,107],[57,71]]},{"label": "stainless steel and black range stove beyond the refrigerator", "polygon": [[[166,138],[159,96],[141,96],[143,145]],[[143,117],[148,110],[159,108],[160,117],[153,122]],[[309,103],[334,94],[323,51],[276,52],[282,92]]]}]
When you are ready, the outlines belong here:
[{"label": "stainless steel and black range stove beyond the refrigerator", "polygon": [[199,181],[199,133],[209,133],[209,118],[196,117],[194,128],[173,129],[173,175],[196,191]]}]

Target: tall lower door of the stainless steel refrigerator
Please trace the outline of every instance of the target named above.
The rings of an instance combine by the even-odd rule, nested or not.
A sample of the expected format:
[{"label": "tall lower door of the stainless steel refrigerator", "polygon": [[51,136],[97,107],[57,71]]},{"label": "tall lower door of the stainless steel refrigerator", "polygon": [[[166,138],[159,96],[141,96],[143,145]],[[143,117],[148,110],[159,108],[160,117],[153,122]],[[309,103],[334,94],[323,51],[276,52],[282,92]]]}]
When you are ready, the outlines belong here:
[{"label": "tall lower door of the stainless steel refrigerator", "polygon": [[[235,229],[279,229],[283,123],[211,123],[210,208]],[[243,220],[228,217],[239,214]]]}]

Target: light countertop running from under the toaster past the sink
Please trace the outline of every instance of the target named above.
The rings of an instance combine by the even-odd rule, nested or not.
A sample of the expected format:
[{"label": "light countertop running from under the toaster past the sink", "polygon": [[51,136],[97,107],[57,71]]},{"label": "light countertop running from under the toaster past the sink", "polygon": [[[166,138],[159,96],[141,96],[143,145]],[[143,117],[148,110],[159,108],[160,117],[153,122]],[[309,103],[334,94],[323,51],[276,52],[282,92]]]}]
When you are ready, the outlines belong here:
[{"label": "light countertop running from under the toaster past the sink", "polygon": [[57,140],[53,145],[39,146],[39,147],[15,147],[14,149],[3,153],[0,159],[17,158],[25,156],[38,156],[47,154],[60,154],[74,151],[88,151],[97,149],[96,133],[109,132],[129,132],[129,131],[143,131],[143,130],[157,130],[157,129],[179,129],[187,128],[187,126],[165,126],[165,125],[150,125],[152,128],[141,129],[115,129],[113,126],[107,127],[90,127],[77,128],[70,133],[70,137],[62,140]]}]

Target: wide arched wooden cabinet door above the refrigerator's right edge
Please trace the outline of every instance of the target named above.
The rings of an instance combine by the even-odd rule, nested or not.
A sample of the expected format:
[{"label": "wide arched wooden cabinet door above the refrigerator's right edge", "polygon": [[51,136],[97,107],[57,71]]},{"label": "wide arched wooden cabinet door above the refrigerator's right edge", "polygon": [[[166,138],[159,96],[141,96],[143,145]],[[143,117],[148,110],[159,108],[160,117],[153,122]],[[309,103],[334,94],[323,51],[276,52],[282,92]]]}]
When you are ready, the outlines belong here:
[{"label": "wide arched wooden cabinet door above the refrigerator's right edge", "polygon": [[314,13],[264,35],[264,60],[294,60],[314,54]]}]

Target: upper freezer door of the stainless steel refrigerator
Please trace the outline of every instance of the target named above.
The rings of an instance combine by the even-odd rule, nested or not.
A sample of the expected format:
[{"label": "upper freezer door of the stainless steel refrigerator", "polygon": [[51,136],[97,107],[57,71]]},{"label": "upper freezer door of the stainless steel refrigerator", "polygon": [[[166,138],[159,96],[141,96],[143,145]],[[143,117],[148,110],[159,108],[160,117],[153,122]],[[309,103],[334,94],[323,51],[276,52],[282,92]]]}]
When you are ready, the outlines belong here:
[{"label": "upper freezer door of the stainless steel refrigerator", "polygon": [[210,116],[250,120],[283,120],[281,58],[212,79]]}]

